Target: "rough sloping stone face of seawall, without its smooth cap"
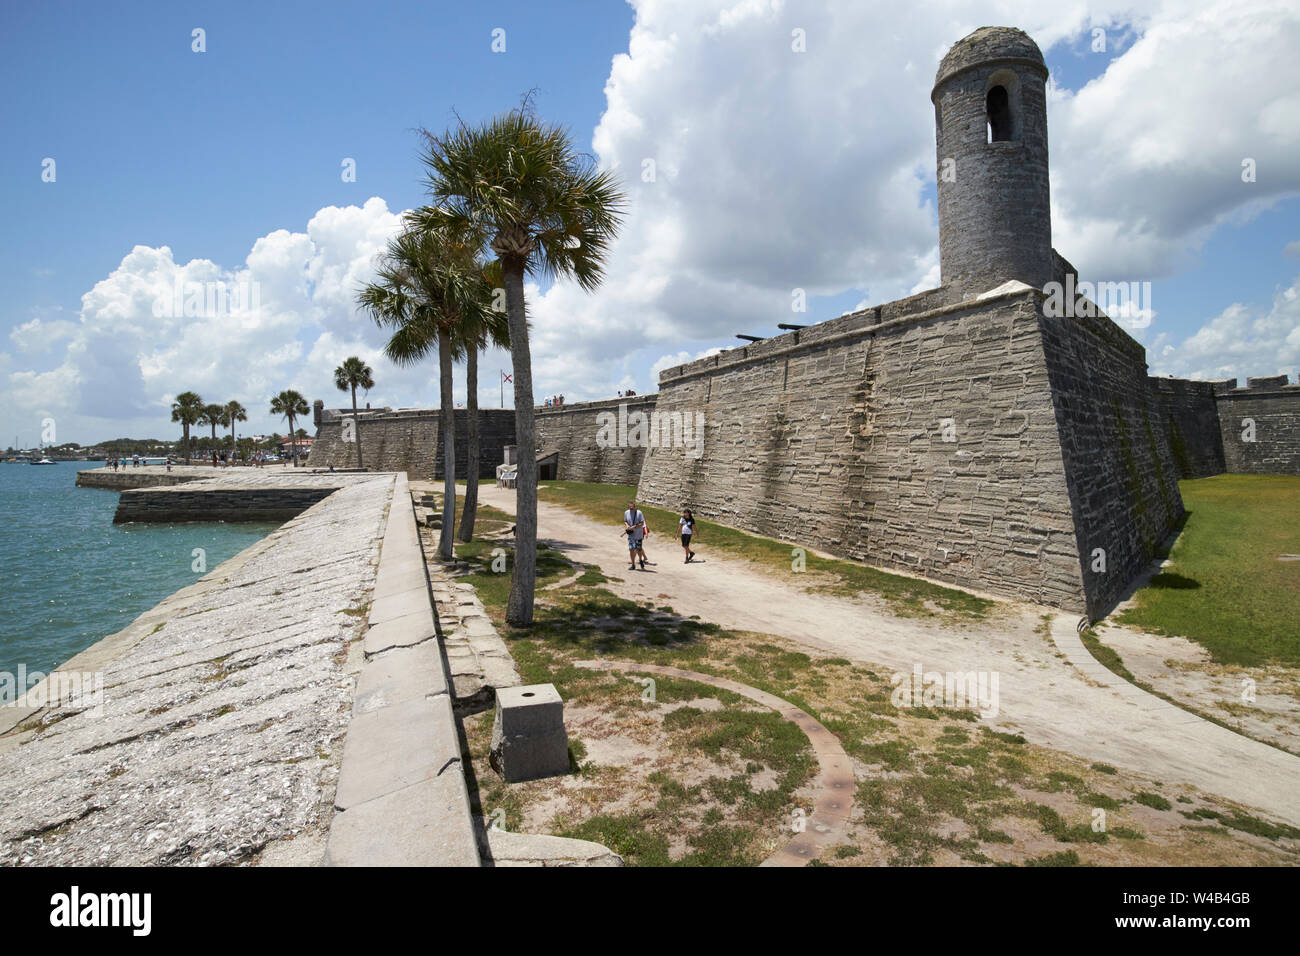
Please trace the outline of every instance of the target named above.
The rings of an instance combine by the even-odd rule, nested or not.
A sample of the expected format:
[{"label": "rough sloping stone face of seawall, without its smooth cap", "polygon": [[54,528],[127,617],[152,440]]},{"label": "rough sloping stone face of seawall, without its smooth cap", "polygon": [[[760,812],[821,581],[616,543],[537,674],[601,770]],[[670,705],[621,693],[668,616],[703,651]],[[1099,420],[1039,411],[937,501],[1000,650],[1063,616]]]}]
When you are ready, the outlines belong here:
[{"label": "rough sloping stone face of seawall, without its smooth cap", "polygon": [[318,864],[394,479],[341,483],[53,671],[95,671],[98,704],[0,711],[0,865]]}]

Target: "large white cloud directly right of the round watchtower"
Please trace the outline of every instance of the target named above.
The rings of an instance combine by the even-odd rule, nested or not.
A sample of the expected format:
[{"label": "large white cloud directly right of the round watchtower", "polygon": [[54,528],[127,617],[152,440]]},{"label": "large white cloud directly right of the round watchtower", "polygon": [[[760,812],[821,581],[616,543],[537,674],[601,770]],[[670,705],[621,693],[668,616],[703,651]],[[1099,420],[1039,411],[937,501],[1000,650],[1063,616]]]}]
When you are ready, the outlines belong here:
[{"label": "large white cloud directly right of the round watchtower", "polygon": [[1295,4],[1171,4],[1101,77],[1054,90],[1054,245],[1091,278],[1149,280],[1300,194],[1297,47]]}]

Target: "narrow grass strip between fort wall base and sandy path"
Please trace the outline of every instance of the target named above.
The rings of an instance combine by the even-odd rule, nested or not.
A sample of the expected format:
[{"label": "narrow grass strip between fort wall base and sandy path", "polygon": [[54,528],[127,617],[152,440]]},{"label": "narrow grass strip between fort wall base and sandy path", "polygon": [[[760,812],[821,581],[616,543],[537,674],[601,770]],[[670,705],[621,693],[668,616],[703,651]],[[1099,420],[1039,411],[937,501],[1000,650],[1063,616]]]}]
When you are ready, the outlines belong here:
[{"label": "narrow grass strip between fort wall base and sandy path", "polygon": [[[543,501],[572,509],[595,522],[608,524],[611,528],[620,528],[623,512],[636,493],[637,489],[630,485],[547,481],[541,488],[540,497]],[[670,545],[676,546],[675,536],[680,515],[650,505],[641,505],[641,511],[651,531],[646,546],[651,550]],[[724,524],[697,519],[693,544],[698,544],[701,557],[706,559],[710,550],[723,551],[748,558],[770,571],[794,574],[792,550],[796,545],[785,541],[759,537],[728,528]],[[980,619],[987,617],[994,606],[993,601],[967,594],[965,591],[890,574],[852,561],[806,554],[805,567],[806,571],[801,574],[807,574],[810,583],[815,583],[820,589],[842,594],[872,593],[884,598],[890,609],[898,614],[928,615],[935,614],[935,609],[939,609],[939,611],[959,618]]]}]

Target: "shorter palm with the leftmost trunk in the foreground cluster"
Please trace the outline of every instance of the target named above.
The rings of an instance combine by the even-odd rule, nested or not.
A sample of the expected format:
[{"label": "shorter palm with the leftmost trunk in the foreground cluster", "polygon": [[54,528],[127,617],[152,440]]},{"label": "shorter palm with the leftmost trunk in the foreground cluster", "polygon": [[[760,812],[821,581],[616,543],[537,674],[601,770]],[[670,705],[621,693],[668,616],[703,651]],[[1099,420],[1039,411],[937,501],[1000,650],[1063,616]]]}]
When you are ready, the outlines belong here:
[{"label": "shorter palm with the leftmost trunk in the foreground cluster", "polygon": [[389,242],[377,281],[365,286],[358,302],[381,326],[394,329],[385,354],[399,365],[411,365],[438,351],[439,423],[442,433],[442,531],[438,555],[454,558],[456,523],[456,419],[451,399],[451,367],[463,345],[463,323],[490,311],[477,259],[481,237],[448,229],[407,229]]}]

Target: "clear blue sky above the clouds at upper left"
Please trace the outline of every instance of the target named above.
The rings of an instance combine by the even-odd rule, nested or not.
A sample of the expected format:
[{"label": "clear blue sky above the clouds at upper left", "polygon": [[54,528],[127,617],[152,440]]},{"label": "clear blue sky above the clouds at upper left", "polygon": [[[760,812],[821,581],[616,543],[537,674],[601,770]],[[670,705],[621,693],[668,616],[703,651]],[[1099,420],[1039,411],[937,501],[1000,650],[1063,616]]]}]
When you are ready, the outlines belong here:
[{"label": "clear blue sky above the clouds at upper left", "polygon": [[[78,308],[131,246],[239,263],[322,206],[421,202],[420,126],[490,116],[538,90],[590,139],[630,8],[512,3],[5,4],[0,153],[13,226],[0,323]],[[581,35],[575,35],[576,23]],[[490,51],[507,25],[507,53]],[[191,51],[191,30],[207,52]],[[40,179],[44,157],[56,183]],[[339,176],[356,160],[358,181]],[[55,274],[48,274],[53,271]]]}]

